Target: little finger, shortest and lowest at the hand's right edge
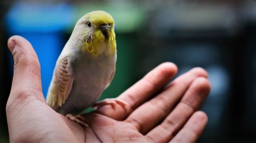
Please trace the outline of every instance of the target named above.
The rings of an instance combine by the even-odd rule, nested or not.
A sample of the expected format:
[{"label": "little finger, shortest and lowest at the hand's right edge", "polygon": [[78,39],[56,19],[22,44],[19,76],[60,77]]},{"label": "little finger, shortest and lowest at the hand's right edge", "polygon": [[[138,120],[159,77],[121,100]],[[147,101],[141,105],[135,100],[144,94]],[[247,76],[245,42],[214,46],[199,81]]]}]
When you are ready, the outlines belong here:
[{"label": "little finger, shortest and lowest at the hand's right edge", "polygon": [[196,142],[208,122],[202,111],[197,111],[170,142]]}]

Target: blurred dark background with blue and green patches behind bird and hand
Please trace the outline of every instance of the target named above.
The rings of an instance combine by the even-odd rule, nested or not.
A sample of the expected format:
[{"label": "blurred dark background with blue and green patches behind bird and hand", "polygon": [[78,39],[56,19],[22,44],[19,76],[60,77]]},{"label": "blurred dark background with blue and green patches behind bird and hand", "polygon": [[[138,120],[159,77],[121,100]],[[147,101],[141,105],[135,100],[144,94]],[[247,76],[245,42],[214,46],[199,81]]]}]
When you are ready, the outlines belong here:
[{"label": "blurred dark background with blue and green patches behind bird and hand", "polygon": [[6,1],[0,0],[0,142],[8,142],[5,106],[13,60],[12,35],[27,38],[41,64],[46,95],[57,57],[76,21],[93,10],[116,22],[118,60],[102,98],[116,97],[162,62],[178,75],[209,73],[212,90],[202,110],[209,122],[199,142],[256,140],[256,1]]}]

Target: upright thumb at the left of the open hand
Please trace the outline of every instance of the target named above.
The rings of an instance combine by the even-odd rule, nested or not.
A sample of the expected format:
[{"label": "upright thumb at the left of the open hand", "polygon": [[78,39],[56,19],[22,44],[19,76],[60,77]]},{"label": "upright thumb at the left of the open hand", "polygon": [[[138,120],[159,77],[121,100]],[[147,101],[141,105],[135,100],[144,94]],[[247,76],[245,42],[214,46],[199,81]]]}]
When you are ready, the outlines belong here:
[{"label": "upright thumb at the left of the open hand", "polygon": [[31,44],[23,37],[12,36],[8,40],[8,47],[13,56],[14,72],[7,109],[14,101],[23,102],[31,96],[44,101],[40,65]]}]

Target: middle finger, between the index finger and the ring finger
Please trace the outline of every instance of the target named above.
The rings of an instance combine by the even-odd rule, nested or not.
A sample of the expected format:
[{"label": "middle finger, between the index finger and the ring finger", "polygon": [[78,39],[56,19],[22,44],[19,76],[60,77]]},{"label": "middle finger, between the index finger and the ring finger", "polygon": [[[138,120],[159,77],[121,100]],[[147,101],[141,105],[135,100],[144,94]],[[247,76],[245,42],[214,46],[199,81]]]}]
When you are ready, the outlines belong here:
[{"label": "middle finger, between the index finger and the ring finger", "polygon": [[207,77],[207,73],[201,68],[195,68],[181,75],[165,91],[131,113],[126,122],[146,134],[169,114],[197,77]]}]

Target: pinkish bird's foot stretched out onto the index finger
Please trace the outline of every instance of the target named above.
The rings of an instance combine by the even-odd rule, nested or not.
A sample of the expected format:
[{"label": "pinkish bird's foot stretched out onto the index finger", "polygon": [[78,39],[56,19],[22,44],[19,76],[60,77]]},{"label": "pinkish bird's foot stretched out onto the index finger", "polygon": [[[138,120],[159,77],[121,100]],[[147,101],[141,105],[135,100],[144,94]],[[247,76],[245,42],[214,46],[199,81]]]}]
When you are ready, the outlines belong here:
[{"label": "pinkish bird's foot stretched out onto the index finger", "polygon": [[123,106],[126,110],[129,107],[129,104],[126,101],[121,99],[116,99],[116,98],[109,98],[109,99],[104,99],[102,101],[98,101],[93,105],[93,107],[100,108],[104,105],[111,105],[113,108],[116,108],[117,104]]}]

